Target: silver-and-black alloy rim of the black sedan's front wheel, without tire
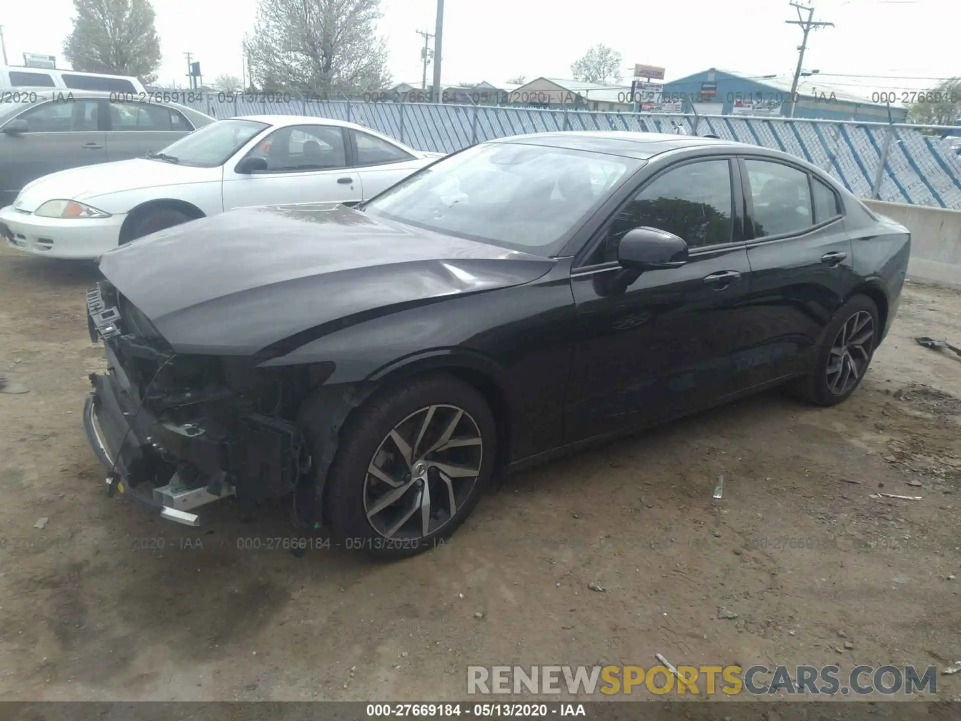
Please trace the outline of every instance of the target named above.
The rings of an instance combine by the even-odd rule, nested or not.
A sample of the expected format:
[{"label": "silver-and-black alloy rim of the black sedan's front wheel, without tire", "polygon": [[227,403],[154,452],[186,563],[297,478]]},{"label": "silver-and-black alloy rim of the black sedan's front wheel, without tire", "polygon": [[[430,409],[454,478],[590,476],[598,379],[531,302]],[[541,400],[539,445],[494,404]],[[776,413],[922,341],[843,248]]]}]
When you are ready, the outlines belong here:
[{"label": "silver-and-black alloy rim of the black sedan's front wheel, without tire", "polygon": [[394,426],[367,465],[367,521],[384,538],[424,538],[466,503],[480,475],[483,439],[466,410],[436,405]]}]

